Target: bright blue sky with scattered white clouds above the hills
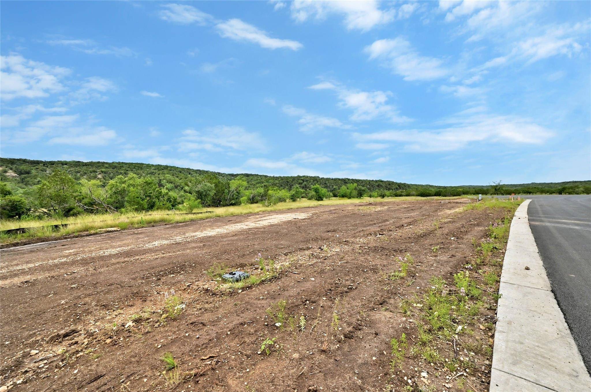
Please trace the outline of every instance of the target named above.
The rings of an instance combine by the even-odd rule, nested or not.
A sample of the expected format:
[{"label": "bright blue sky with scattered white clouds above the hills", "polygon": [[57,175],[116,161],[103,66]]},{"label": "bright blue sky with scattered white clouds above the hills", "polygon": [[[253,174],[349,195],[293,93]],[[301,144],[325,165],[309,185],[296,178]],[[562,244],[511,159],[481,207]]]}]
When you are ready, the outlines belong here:
[{"label": "bright blue sky with scattered white clouds above the hills", "polygon": [[591,178],[589,2],[1,3],[1,155]]}]

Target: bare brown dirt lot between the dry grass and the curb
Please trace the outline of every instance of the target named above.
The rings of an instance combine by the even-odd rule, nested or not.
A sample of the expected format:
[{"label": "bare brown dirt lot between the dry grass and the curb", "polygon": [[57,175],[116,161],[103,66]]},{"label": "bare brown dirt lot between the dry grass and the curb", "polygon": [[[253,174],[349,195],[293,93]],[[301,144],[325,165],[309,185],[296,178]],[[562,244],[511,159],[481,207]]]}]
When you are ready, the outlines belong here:
[{"label": "bare brown dirt lot between the dry grass and the curb", "polygon": [[[505,216],[503,210],[463,211],[463,205],[301,208],[2,250],[0,386],[41,392],[488,390],[488,349],[471,347],[492,345],[491,328],[478,323],[493,318],[496,300],[477,311],[470,334],[440,347],[439,357],[426,360],[407,350],[405,361],[391,365],[391,338],[404,332],[409,348],[418,345],[413,318],[420,315],[402,313],[403,300],[420,307],[431,277],[453,285],[453,274],[474,256],[473,239],[486,237],[489,224]],[[277,277],[220,290],[205,273],[214,263],[256,273],[258,253],[282,267]],[[414,259],[407,276],[387,279],[406,254]],[[165,297],[173,293],[183,306],[163,320]],[[286,321],[277,326],[266,311],[281,300]],[[269,355],[261,349],[267,338],[276,338]],[[164,373],[166,352],[178,367]],[[448,357],[466,358],[470,366],[450,370]]]}]

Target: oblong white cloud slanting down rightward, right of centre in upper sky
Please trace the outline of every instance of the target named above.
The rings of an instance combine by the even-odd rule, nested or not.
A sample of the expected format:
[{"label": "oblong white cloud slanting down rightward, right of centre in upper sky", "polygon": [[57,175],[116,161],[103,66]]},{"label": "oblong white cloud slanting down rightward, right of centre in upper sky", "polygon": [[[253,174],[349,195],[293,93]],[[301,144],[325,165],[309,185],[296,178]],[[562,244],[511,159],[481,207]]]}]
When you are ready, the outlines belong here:
[{"label": "oblong white cloud slanting down rightward, right of centre in upper sky", "polygon": [[365,47],[365,53],[370,60],[381,60],[382,66],[402,76],[404,80],[433,80],[449,74],[443,61],[418,54],[404,38],[375,41]]}]

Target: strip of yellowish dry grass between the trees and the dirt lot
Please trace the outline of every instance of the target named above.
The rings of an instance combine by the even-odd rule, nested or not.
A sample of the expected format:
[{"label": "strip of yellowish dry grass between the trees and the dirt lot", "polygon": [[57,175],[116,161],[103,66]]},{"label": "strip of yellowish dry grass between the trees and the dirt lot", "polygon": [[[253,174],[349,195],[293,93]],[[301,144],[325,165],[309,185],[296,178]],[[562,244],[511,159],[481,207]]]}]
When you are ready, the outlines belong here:
[{"label": "strip of yellowish dry grass between the trees and the dirt lot", "polygon": [[[330,198],[323,201],[316,200],[298,200],[281,202],[271,207],[265,207],[262,204],[242,204],[231,205],[229,207],[203,208],[200,211],[212,211],[210,213],[192,215],[174,213],[172,211],[150,211],[146,213],[128,213],[128,214],[83,214],[75,217],[46,220],[3,220],[0,221],[0,230],[9,230],[11,228],[31,227],[26,233],[22,234],[1,234],[0,242],[11,243],[18,240],[32,238],[56,238],[76,233],[92,233],[93,231],[105,228],[126,229],[131,227],[152,226],[163,223],[181,223],[207,218],[229,217],[235,215],[253,214],[268,211],[291,210],[294,208],[316,207],[317,205],[336,205],[351,204],[358,202],[384,202],[384,201],[409,201],[409,200],[434,200],[451,199],[442,197],[387,197],[387,198],[359,198],[359,199],[341,199]],[[47,227],[50,225],[67,224],[66,227],[53,229]]]}]

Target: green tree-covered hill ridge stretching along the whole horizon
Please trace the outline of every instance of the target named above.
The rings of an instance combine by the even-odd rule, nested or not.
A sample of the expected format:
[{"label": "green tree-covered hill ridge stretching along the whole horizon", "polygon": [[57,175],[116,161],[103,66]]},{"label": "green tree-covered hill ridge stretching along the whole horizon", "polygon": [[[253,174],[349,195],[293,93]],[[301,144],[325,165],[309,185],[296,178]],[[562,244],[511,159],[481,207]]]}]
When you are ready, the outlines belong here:
[{"label": "green tree-covered hill ridge stretching along the whole horizon", "polygon": [[[33,161],[0,158],[2,218],[81,213],[184,210],[278,202],[302,197],[459,196],[462,194],[591,193],[591,181],[439,187],[404,182],[225,174],[128,162]],[[541,186],[540,186],[541,185]]]}]

